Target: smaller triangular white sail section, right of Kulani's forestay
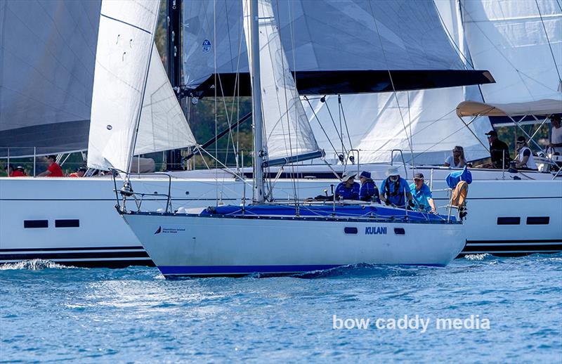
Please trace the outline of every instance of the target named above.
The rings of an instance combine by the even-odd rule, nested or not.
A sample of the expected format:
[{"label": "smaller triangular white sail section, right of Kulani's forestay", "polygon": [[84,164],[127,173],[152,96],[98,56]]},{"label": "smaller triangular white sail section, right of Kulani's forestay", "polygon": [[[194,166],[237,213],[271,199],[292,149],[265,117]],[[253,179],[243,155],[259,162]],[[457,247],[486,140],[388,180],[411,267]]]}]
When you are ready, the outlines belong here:
[{"label": "smaller triangular white sail section, right of Kulani's forestay", "polygon": [[153,45],[134,154],[190,145],[195,145],[195,137],[185,120],[178,98],[171,89],[156,45]]}]

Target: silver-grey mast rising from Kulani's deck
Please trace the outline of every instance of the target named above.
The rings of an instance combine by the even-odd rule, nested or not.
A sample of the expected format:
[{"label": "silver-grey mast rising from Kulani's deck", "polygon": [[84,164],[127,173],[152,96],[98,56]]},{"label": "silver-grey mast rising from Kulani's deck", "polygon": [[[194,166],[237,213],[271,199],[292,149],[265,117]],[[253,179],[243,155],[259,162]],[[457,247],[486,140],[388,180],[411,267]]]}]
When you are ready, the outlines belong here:
[{"label": "silver-grey mast rising from Kulani's deck", "polygon": [[251,111],[254,124],[254,202],[263,202],[263,115],[261,113],[261,82],[259,67],[259,17],[258,0],[249,0],[249,24],[251,37]]}]

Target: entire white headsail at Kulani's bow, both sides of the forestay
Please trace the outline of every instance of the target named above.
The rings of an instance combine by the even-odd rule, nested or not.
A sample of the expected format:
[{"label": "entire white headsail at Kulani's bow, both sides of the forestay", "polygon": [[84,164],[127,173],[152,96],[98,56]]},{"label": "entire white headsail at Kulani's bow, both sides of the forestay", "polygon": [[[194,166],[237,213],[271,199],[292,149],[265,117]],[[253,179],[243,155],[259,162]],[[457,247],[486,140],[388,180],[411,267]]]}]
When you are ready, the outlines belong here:
[{"label": "entire white headsail at Kulani's bow, both sides of the forestay", "polygon": [[89,167],[127,171],[133,150],[195,143],[153,43],[158,8],[159,1],[152,0],[103,1]]}]

